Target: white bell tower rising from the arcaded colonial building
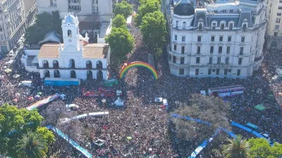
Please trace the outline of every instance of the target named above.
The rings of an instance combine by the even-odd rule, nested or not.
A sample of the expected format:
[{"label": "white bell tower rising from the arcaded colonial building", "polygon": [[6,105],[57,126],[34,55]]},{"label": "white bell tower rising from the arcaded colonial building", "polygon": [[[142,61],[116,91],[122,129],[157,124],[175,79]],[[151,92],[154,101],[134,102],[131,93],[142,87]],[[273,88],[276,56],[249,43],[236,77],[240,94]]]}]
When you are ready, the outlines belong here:
[{"label": "white bell tower rising from the arcaded colonial building", "polygon": [[78,17],[68,14],[63,18],[63,50],[80,51]]}]

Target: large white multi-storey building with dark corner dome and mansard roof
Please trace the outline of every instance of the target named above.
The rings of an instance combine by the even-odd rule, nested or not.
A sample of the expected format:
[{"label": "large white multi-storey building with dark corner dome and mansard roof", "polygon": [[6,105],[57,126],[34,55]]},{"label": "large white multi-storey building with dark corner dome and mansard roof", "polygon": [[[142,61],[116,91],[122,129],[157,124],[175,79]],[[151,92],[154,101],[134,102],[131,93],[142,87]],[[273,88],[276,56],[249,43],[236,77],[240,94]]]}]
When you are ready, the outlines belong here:
[{"label": "large white multi-storey building with dark corner dome and mansard roof", "polygon": [[[168,62],[179,77],[250,77],[261,65],[266,4],[261,0],[217,0],[194,8],[173,5]],[[171,17],[171,18],[169,18]]]}]

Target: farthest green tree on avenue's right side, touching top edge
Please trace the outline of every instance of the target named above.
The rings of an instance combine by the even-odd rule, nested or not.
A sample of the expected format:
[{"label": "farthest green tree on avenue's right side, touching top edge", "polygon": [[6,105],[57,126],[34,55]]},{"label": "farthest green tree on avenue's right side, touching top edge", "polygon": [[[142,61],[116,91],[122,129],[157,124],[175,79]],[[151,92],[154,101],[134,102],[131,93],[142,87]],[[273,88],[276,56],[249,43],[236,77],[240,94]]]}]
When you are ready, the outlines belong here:
[{"label": "farthest green tree on avenue's right side, touching top edge", "polygon": [[159,11],[161,4],[159,3],[159,0],[147,0],[142,1],[140,3],[140,7],[138,8],[138,13],[135,17],[135,23],[137,26],[141,25],[142,18],[147,13],[154,13],[154,11]]}]

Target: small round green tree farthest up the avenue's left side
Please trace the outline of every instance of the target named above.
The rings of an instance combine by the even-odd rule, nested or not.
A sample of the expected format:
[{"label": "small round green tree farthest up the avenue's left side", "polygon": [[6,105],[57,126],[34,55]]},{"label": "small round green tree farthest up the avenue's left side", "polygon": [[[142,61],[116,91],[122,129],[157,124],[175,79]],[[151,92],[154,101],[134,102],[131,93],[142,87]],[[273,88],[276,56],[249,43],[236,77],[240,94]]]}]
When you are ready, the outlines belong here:
[{"label": "small round green tree farthest up the avenue's left side", "polygon": [[114,9],[114,14],[121,14],[126,19],[129,15],[133,13],[133,6],[128,4],[127,1],[121,1],[121,3],[117,3]]}]

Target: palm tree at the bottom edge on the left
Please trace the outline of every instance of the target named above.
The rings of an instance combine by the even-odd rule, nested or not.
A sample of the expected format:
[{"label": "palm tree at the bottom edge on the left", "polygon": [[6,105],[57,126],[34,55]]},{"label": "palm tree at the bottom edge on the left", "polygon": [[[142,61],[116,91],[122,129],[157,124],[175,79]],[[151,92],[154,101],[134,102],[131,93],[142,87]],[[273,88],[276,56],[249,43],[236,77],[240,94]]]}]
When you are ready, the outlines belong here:
[{"label": "palm tree at the bottom edge on the left", "polygon": [[18,155],[23,158],[44,158],[48,151],[47,140],[41,134],[27,132],[18,140]]}]

